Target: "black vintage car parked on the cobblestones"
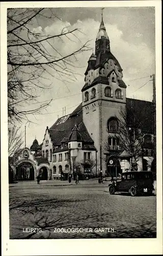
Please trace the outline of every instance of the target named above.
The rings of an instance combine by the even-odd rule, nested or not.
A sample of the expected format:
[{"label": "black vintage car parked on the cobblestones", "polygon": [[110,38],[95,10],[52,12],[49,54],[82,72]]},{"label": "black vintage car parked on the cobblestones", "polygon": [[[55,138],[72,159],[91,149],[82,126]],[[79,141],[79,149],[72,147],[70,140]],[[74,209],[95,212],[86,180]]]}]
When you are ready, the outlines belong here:
[{"label": "black vintage car parked on the cobblestones", "polygon": [[152,195],[154,190],[153,174],[150,171],[125,172],[121,174],[121,179],[108,185],[111,195],[116,191],[128,192],[132,197],[139,194]]}]

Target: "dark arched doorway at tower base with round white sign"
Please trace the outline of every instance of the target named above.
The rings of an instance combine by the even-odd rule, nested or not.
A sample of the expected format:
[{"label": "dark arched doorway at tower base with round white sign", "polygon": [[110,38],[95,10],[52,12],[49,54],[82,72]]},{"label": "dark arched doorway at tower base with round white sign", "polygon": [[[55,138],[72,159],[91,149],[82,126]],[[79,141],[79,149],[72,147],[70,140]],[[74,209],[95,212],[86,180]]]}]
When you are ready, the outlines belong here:
[{"label": "dark arched doorway at tower base with round white sign", "polygon": [[109,158],[107,161],[107,176],[117,177],[119,173],[122,173],[119,160],[114,157]]}]

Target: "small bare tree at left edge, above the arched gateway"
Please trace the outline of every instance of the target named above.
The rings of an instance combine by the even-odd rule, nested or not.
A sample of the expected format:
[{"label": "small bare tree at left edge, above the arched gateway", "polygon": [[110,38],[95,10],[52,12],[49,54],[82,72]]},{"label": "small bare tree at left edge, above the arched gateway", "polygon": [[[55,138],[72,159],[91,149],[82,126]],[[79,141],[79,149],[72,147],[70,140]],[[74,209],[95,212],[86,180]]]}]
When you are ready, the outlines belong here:
[{"label": "small bare tree at left edge, above the arched gateway", "polygon": [[23,134],[20,131],[20,127],[16,125],[9,125],[8,128],[8,153],[9,157],[14,155],[22,146]]}]

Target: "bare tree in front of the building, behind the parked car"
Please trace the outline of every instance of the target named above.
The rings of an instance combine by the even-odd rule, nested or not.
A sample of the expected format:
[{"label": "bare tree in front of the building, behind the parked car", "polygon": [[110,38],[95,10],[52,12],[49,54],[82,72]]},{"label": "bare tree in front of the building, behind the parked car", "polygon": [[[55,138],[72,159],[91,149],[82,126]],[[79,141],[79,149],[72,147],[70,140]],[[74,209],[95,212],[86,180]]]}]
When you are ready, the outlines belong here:
[{"label": "bare tree in front of the building, behind the parked car", "polygon": [[[126,108],[121,108],[119,111],[118,131],[114,134],[115,145],[114,154],[120,155],[121,152],[126,151],[131,155],[131,169],[135,169],[137,161],[142,158],[143,138],[142,122],[139,119],[137,110],[134,106],[126,113]],[[110,151],[110,144],[108,141],[104,145],[105,150]]]}]

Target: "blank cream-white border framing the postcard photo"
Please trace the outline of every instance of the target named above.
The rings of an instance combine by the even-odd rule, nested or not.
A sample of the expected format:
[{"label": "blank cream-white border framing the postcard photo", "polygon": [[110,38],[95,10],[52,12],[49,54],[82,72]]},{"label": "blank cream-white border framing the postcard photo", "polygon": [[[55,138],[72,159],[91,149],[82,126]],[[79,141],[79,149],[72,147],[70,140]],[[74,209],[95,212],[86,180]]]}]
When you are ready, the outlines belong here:
[{"label": "blank cream-white border framing the postcard photo", "polygon": [[[7,153],[7,8],[16,7],[155,7],[156,23],[156,123],[157,123],[157,238],[9,240],[9,192]],[[1,2],[1,179],[2,254],[99,255],[162,253],[162,115],[161,115],[161,1]],[[150,207],[150,206],[149,206]]]}]

